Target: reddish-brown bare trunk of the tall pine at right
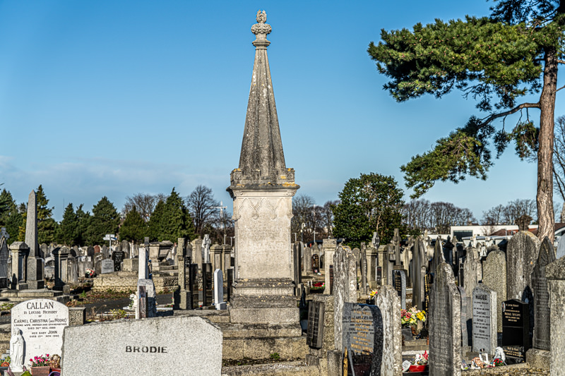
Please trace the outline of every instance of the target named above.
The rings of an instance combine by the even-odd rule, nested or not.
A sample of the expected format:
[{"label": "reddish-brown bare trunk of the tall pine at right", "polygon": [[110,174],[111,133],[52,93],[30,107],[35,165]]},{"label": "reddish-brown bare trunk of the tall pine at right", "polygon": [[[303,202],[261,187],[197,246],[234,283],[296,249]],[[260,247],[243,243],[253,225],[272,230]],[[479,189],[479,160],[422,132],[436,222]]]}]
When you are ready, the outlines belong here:
[{"label": "reddish-brown bare trunk of the tall pine at right", "polygon": [[553,243],[553,132],[555,114],[555,92],[557,90],[557,52],[545,51],[543,90],[540,96],[540,149],[537,151],[537,219],[540,227],[537,237],[545,236]]}]

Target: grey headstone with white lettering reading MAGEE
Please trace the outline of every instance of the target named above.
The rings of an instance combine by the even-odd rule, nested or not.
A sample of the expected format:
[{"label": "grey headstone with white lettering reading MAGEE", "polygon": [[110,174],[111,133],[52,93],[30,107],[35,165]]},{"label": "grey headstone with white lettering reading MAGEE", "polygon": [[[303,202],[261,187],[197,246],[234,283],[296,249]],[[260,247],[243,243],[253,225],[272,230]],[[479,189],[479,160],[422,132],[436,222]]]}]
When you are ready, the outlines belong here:
[{"label": "grey headstone with white lettering reading MAGEE", "polygon": [[496,333],[496,291],[478,284],[472,291],[472,351],[494,355]]}]

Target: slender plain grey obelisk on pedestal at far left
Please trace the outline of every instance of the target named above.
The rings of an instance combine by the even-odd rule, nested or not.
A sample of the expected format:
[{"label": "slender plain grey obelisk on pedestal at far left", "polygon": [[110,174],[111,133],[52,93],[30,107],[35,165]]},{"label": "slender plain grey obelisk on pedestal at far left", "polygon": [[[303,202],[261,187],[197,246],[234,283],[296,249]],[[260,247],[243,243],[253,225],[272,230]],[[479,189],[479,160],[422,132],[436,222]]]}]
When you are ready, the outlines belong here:
[{"label": "slender plain grey obelisk on pedestal at far left", "polygon": [[25,244],[30,247],[28,255],[28,270],[26,280],[29,289],[43,289],[43,261],[39,255],[37,243],[37,200],[35,191],[32,190],[28,197],[28,217],[25,219]]}]

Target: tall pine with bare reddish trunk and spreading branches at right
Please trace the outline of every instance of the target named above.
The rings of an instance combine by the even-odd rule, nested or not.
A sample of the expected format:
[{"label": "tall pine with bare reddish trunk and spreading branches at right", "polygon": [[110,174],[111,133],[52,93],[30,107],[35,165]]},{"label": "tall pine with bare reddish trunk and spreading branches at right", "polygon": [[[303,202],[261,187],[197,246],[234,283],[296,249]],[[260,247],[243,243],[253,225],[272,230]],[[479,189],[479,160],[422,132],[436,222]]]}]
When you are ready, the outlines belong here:
[{"label": "tall pine with bare reddish trunk and spreading branches at right", "polygon": [[[379,72],[391,78],[384,88],[398,102],[424,94],[439,98],[456,88],[487,112],[482,119],[471,116],[432,150],[402,166],[407,186],[415,190],[412,198],[436,181],[457,183],[467,175],[486,178],[492,166],[489,142],[497,155],[515,142],[521,158],[537,152],[538,237],[553,239],[554,110],[557,68],[565,63],[565,1],[495,1],[490,18],[468,16],[448,23],[418,23],[413,30],[382,30],[382,42],[371,42],[368,52]],[[518,101],[540,91],[538,102]],[[528,109],[540,110],[540,128]],[[517,112],[525,114],[506,131],[504,119]],[[496,119],[503,120],[498,131]]]}]

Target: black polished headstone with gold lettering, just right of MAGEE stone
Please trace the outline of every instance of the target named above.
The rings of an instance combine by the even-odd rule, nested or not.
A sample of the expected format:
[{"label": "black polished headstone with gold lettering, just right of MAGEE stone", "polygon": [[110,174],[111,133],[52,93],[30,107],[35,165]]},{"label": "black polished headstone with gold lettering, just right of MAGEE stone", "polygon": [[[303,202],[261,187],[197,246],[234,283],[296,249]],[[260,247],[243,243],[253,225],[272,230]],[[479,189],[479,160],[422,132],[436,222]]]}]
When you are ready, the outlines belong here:
[{"label": "black polished headstone with gold lettering, just right of MAGEE stone", "polygon": [[502,303],[502,349],[507,363],[525,362],[530,348],[530,307],[511,299]]}]

